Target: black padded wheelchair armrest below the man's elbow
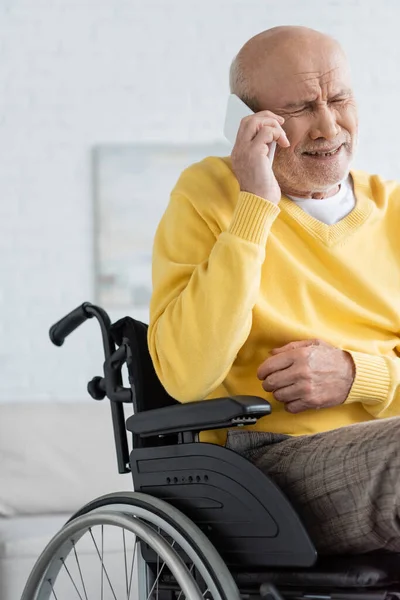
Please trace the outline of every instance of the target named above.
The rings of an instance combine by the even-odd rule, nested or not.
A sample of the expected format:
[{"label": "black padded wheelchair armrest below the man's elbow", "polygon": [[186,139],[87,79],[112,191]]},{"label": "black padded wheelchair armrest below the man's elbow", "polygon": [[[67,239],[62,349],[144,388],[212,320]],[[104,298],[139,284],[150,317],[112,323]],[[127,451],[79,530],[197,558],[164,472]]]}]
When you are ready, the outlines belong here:
[{"label": "black padded wheelchair armrest below the man's elbow", "polygon": [[141,437],[253,425],[271,413],[271,405],[258,396],[230,396],[198,400],[146,410],[129,417],[128,431]]}]

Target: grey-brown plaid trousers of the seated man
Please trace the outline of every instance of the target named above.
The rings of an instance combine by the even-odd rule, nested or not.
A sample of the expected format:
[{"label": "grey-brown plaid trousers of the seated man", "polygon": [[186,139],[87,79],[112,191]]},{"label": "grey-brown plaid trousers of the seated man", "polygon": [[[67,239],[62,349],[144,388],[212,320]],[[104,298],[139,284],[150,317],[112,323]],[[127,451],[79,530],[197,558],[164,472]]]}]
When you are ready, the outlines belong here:
[{"label": "grey-brown plaid trousers of the seated man", "polygon": [[321,554],[400,552],[400,417],[298,437],[231,429],[226,447],[281,488]]}]

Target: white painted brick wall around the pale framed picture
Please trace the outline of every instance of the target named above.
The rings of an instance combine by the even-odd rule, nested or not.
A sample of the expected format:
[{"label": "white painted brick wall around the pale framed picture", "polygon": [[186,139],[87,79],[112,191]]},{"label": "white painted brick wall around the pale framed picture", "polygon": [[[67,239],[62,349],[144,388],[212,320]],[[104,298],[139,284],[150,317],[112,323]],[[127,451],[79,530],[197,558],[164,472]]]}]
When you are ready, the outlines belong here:
[{"label": "white painted brick wall around the pale framed picture", "polygon": [[94,301],[94,144],[219,138],[233,55],[301,24],[353,63],[357,166],[400,178],[399,17],[398,0],[0,0],[0,400],[85,398],[101,370],[95,323],[47,337]]}]

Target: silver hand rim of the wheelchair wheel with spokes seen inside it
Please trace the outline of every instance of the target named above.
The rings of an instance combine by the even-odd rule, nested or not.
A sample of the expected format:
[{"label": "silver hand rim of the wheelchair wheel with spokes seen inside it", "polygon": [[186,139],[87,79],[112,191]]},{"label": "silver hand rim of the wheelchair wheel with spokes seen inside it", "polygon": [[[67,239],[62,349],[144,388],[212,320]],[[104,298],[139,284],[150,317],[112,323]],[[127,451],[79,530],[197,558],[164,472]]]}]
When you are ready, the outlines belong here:
[{"label": "silver hand rim of the wheelchair wheel with spokes seen inside it", "polygon": [[[121,568],[118,569],[119,577],[115,581],[115,577],[106,566],[105,526],[122,530],[125,549],[128,546],[127,533],[135,536],[130,559],[127,552],[123,553],[122,571],[125,571],[125,578],[122,584]],[[97,542],[94,535],[96,527],[101,528]],[[87,533],[93,541],[99,559],[99,580],[96,582],[93,579],[89,581],[85,577],[83,556],[79,556],[80,542]],[[158,559],[153,581],[150,582],[146,595],[142,594],[139,599],[134,589],[133,574],[136,557],[140,554],[140,542],[147,544],[156,552]],[[121,513],[96,511],[95,514],[74,519],[54,536],[39,557],[21,600],[159,600],[161,592],[165,591],[161,579],[165,571],[170,573],[176,582],[176,597],[179,597],[179,600],[204,598],[190,569],[174,549],[174,544],[168,544],[160,533],[140,519]],[[171,584],[168,589],[172,589]]]}]

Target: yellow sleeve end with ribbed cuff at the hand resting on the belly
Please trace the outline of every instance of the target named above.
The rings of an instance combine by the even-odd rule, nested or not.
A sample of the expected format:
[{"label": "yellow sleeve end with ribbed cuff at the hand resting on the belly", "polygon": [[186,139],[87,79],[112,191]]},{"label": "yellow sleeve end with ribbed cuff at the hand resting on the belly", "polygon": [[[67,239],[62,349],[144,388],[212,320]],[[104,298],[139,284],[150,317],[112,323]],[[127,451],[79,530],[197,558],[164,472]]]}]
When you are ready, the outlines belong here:
[{"label": "yellow sleeve end with ribbed cuff at the hand resting on the belly", "polygon": [[347,352],[356,374],[346,404],[361,402],[376,418],[400,416],[400,358]]}]

